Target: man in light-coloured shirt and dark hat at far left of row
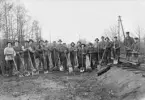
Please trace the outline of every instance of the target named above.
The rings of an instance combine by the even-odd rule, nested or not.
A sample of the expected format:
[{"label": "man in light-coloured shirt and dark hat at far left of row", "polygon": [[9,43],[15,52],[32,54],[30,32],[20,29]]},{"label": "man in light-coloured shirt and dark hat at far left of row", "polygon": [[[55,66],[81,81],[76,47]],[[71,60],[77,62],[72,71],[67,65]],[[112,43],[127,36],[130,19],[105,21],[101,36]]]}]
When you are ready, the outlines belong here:
[{"label": "man in light-coloured shirt and dark hat at far left of row", "polygon": [[16,56],[16,52],[12,47],[12,43],[10,41],[7,42],[7,47],[4,49],[5,61],[6,61],[6,69],[8,70],[8,75],[12,76],[13,67],[14,67],[14,57]]}]

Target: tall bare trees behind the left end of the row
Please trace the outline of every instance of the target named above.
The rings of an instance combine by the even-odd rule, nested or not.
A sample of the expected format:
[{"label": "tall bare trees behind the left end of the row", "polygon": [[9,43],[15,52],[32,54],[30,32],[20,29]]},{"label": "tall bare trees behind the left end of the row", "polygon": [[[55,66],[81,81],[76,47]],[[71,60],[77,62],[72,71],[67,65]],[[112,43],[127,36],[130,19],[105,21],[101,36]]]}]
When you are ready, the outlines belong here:
[{"label": "tall bare trees behind the left end of the row", "polygon": [[35,20],[37,23],[34,25],[33,22],[24,5],[16,5],[8,0],[0,1],[0,31],[4,33],[4,39],[18,39],[22,42],[32,36],[41,37],[39,23]]}]

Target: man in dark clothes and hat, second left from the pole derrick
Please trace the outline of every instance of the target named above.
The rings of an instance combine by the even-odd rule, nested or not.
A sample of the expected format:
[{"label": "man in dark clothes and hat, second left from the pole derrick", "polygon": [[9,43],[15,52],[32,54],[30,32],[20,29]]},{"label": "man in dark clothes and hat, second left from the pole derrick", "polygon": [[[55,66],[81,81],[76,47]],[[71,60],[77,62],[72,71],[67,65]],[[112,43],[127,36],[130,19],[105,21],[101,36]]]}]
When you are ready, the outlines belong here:
[{"label": "man in dark clothes and hat, second left from the pole derrick", "polygon": [[108,37],[105,38],[105,63],[110,63],[111,62],[111,48],[112,48],[112,43]]}]

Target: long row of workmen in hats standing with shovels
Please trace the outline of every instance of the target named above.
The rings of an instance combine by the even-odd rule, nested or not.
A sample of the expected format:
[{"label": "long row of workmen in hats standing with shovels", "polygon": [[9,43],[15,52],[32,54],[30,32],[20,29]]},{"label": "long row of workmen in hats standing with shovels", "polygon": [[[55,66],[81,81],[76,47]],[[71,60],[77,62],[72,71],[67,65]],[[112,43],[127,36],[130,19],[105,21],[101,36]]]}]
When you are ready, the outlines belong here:
[{"label": "long row of workmen in hats standing with shovels", "polygon": [[[132,38],[129,32],[126,32],[124,46],[126,57],[129,57],[130,52],[139,52],[138,38]],[[7,42],[7,47],[4,49],[6,66],[3,68],[4,75],[19,77],[39,74],[40,71],[48,73],[53,70],[80,72],[87,71],[87,68],[92,70],[97,69],[97,65],[103,63],[112,63],[112,58],[119,61],[121,42],[114,37],[110,41],[108,37],[95,39],[95,43],[83,44],[80,41],[75,44],[72,42],[70,47],[62,40],[55,41],[50,44],[47,40],[40,40],[38,44],[32,39],[25,41],[24,46],[20,45],[19,41]]]}]

